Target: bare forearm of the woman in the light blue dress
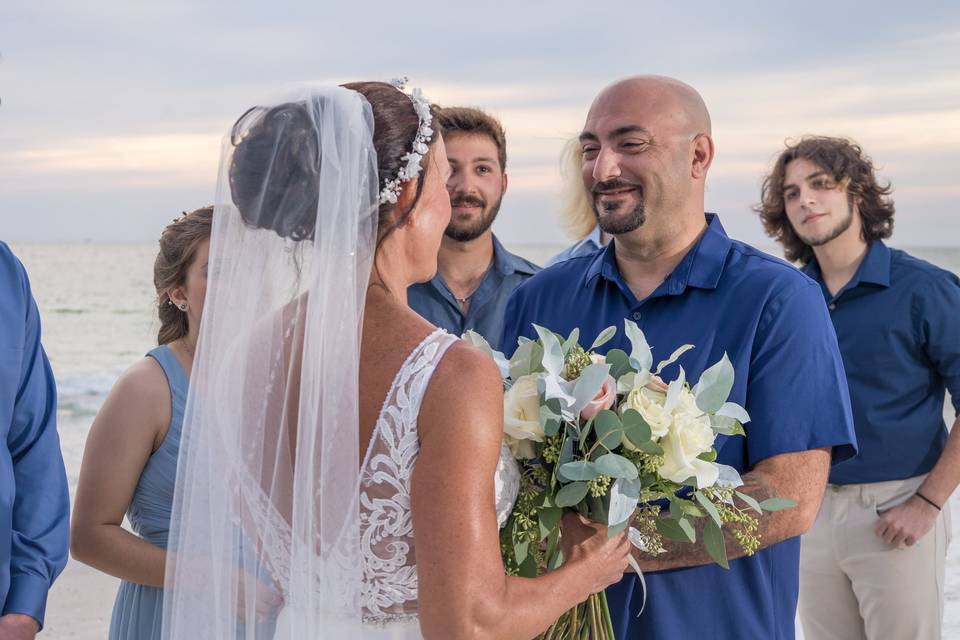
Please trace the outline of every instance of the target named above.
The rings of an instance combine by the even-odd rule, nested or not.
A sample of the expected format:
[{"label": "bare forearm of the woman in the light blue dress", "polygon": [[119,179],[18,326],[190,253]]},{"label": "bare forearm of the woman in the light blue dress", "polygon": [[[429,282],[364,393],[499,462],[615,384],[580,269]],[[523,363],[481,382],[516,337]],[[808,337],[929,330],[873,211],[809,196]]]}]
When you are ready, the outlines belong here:
[{"label": "bare forearm of the woman in the light blue dress", "polygon": [[73,557],[104,573],[149,587],[162,587],[166,551],[114,524],[74,524]]}]

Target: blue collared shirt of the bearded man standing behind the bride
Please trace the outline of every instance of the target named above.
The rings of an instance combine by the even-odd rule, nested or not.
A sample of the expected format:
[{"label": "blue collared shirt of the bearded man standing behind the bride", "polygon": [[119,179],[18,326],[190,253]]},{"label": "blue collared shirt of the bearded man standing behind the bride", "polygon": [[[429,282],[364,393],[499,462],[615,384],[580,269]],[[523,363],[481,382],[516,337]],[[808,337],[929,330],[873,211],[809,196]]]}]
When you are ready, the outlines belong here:
[{"label": "blue collared shirt of the bearded man standing behind the bride", "polygon": [[504,249],[497,237],[493,236],[493,264],[470,296],[466,315],[439,273],[429,282],[421,282],[407,289],[407,303],[432,324],[455,336],[473,329],[490,344],[497,344],[503,331],[507,300],[521,282],[539,270],[537,265]]}]

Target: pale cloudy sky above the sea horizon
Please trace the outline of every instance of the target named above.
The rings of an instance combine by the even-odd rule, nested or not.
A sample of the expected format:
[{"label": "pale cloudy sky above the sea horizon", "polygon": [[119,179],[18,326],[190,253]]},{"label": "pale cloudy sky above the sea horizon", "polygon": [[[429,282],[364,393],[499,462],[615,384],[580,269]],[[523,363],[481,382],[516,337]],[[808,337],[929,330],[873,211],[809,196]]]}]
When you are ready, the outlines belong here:
[{"label": "pale cloudy sky above the sea horizon", "polygon": [[[952,5],[952,6],[951,6]],[[894,240],[960,244],[960,5],[946,2],[2,0],[0,239],[152,241],[212,201],[221,136],[300,81],[408,75],[507,130],[508,244],[565,241],[558,155],[636,73],[696,87],[717,157],[707,209],[755,214],[785,138],[860,142],[893,182]]]}]

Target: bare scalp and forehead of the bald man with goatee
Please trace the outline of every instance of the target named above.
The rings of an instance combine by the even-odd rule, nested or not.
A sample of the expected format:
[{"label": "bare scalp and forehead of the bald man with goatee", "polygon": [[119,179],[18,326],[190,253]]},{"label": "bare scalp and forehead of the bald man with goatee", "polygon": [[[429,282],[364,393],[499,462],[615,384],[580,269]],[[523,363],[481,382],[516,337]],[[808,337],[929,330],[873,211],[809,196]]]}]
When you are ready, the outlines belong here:
[{"label": "bare scalp and forehead of the bald man with goatee", "polygon": [[605,87],[590,111],[640,111],[676,133],[711,134],[710,112],[696,89],[666,76],[632,76]]}]

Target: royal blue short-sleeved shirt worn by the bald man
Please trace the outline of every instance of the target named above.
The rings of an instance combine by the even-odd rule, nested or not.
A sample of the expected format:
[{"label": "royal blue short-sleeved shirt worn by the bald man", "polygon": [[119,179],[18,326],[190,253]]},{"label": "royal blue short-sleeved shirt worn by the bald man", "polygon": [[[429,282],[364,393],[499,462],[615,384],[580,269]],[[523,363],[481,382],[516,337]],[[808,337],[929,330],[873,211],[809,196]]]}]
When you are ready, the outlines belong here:
[{"label": "royal blue short-sleeved shirt worn by the bald man", "polygon": [[[541,271],[521,285],[507,307],[501,349],[518,336],[535,338],[532,323],[564,335],[574,327],[589,344],[609,325],[604,349],[626,349],[623,320],[646,334],[654,362],[691,343],[663,372],[682,366],[691,383],[726,352],[736,379],[730,400],[751,422],[746,437],[717,440],[718,461],[741,473],[781,453],[833,447],[834,461],[855,454],[843,365],[819,288],[799,270],[727,237],[719,218],[676,269],[644,300],[621,278],[616,243]],[[636,575],[607,590],[619,640],[633,638],[793,638],[800,539],[795,537],[730,562]]]}]

